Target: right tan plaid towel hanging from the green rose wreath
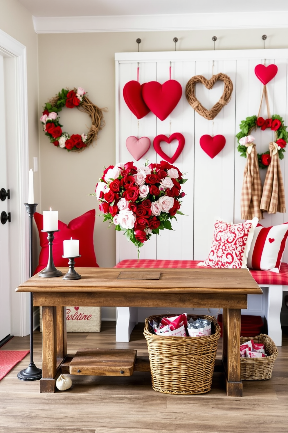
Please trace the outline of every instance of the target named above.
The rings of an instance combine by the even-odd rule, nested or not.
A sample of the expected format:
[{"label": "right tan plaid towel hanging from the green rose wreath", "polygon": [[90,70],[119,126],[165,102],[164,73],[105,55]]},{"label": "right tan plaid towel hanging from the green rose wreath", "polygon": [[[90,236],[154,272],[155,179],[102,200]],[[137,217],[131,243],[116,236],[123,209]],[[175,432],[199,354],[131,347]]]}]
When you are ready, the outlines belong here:
[{"label": "right tan plaid towel hanging from the green rose wreath", "polygon": [[268,213],[284,213],[286,212],[285,191],[277,144],[271,142],[269,144],[269,151],[271,163],[266,173],[260,209],[266,210]]}]

